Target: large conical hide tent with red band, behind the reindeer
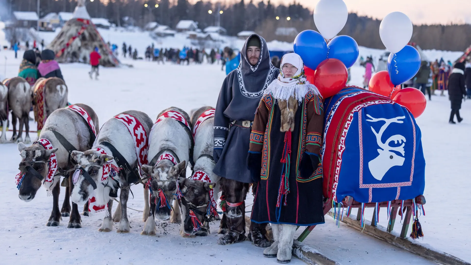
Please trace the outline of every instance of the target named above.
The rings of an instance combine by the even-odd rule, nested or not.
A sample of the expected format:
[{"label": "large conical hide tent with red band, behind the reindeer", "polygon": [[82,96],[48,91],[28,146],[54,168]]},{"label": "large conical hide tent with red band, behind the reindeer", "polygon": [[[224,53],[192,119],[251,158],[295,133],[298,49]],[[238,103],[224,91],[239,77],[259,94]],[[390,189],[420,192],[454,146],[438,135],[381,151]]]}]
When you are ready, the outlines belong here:
[{"label": "large conical hide tent with red band, behind the reindeer", "polygon": [[108,45],[97,31],[91,17],[85,8],[84,0],[77,1],[72,18],[62,27],[48,49],[56,53],[60,63],[81,62],[89,63],[89,55],[95,49],[101,55],[100,65],[119,66],[119,60],[114,56]]}]

